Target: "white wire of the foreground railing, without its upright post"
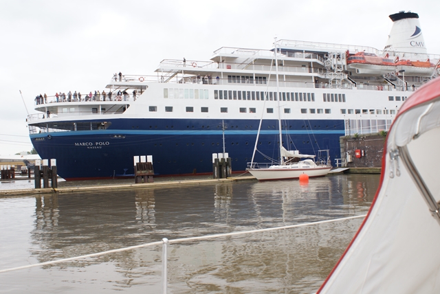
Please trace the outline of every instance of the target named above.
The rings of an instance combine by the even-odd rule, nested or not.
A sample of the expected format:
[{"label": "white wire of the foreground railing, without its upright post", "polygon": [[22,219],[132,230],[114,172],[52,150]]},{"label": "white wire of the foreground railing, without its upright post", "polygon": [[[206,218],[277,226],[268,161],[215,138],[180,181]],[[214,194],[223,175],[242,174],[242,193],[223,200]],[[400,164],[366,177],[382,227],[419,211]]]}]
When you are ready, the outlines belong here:
[{"label": "white wire of the foreground railing, without its upright post", "polygon": [[[259,233],[262,231],[275,231],[278,229],[292,229],[295,227],[307,227],[309,225],[320,225],[323,223],[335,223],[335,222],[338,222],[341,220],[351,220],[351,219],[355,219],[355,218],[364,218],[365,216],[366,216],[366,214],[362,214],[360,216],[349,216],[347,218],[335,218],[333,220],[319,220],[319,221],[316,221],[313,223],[301,223],[298,225],[287,225],[284,227],[269,227],[266,229],[254,229],[252,231],[236,231],[233,233],[225,233],[225,234],[215,234],[215,235],[206,235],[206,236],[199,236],[199,237],[179,238],[179,239],[174,239],[174,240],[167,240],[167,242],[168,242],[168,244],[171,244],[171,243],[186,242],[186,241],[192,241],[192,240],[206,240],[206,239],[221,238],[221,237],[227,237],[227,236],[237,236],[237,235],[242,235],[242,234],[254,234],[254,233]],[[0,270],[0,273],[6,273],[8,271],[18,271],[19,269],[30,269],[32,267],[43,267],[44,265],[69,262],[69,261],[73,261],[73,260],[78,260],[78,259],[83,259],[83,258],[91,258],[91,257],[96,257],[96,256],[103,256],[103,255],[110,254],[110,253],[117,253],[117,252],[122,252],[122,251],[142,248],[142,247],[148,247],[148,246],[154,246],[154,245],[162,245],[162,244],[163,244],[163,241],[161,240],[161,241],[156,241],[156,242],[151,242],[151,243],[146,243],[146,244],[141,244],[141,245],[135,245],[135,246],[131,246],[131,247],[124,247],[124,248],[120,248],[120,249],[112,249],[112,250],[102,251],[102,252],[98,252],[98,253],[91,253],[91,254],[87,254],[84,256],[76,256],[73,258],[64,258],[61,260],[53,260],[53,261],[41,262],[41,263],[37,263],[37,264],[29,264],[29,265],[25,265],[23,267],[13,267],[11,269],[2,269],[2,270]]]}]

